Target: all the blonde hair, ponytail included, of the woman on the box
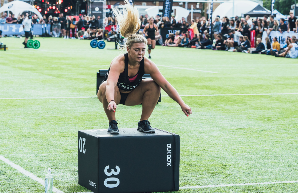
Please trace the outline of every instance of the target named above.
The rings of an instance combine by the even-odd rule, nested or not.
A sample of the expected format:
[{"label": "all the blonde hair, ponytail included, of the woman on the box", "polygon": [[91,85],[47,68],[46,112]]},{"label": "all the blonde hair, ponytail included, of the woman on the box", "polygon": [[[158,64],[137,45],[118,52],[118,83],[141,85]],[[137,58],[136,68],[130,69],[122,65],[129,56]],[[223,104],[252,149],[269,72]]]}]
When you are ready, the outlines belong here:
[{"label": "all the blonde hair, ponytail included, of the woman on the box", "polygon": [[123,15],[117,7],[112,7],[112,11],[118,21],[121,36],[128,38],[125,46],[122,46],[121,49],[130,49],[134,43],[145,43],[147,45],[147,39],[140,34],[136,34],[141,28],[141,20],[137,8],[133,7],[127,0],[124,0],[124,3]]}]

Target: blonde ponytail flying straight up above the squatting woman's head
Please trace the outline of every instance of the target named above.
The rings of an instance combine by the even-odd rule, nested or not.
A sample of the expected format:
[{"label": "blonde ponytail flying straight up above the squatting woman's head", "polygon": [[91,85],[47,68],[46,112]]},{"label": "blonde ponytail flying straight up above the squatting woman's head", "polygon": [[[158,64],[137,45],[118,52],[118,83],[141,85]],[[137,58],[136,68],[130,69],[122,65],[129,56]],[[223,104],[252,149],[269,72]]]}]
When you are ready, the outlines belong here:
[{"label": "blonde ponytail flying straight up above the squatting woman's head", "polygon": [[112,7],[112,11],[118,21],[121,36],[130,37],[141,28],[141,20],[137,8],[133,7],[127,0],[124,2],[123,15],[117,7]]}]

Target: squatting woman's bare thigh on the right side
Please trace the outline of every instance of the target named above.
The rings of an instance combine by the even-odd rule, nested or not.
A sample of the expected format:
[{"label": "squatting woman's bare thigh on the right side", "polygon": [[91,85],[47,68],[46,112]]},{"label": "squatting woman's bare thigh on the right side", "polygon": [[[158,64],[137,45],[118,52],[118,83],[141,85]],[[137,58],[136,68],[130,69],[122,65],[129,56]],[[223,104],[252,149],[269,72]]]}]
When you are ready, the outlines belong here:
[{"label": "squatting woman's bare thigh on the right side", "polygon": [[154,82],[153,79],[151,78],[143,79],[140,85],[128,94],[125,101],[125,105],[134,106],[134,105],[141,104],[145,92],[152,88],[156,88],[157,91],[160,90],[160,87],[158,86],[158,84]]}]

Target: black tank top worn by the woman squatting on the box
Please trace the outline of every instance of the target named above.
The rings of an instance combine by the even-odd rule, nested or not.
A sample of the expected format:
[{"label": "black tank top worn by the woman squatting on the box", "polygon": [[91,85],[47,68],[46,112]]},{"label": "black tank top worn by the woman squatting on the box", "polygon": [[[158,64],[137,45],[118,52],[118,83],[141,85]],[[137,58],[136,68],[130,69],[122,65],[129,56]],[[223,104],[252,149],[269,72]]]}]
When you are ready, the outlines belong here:
[{"label": "black tank top worn by the woman squatting on the box", "polygon": [[[145,74],[144,61],[145,60],[143,58],[142,61],[140,62],[140,68],[139,68],[138,75],[136,77],[136,81],[134,83],[131,83],[128,79],[128,53],[124,54],[124,72],[119,75],[118,82],[117,82],[117,86],[119,89],[123,91],[131,91],[137,86],[139,86],[139,84],[142,81],[142,77]],[[105,74],[103,81],[108,80],[110,69],[111,67],[108,69],[108,72]]]}]

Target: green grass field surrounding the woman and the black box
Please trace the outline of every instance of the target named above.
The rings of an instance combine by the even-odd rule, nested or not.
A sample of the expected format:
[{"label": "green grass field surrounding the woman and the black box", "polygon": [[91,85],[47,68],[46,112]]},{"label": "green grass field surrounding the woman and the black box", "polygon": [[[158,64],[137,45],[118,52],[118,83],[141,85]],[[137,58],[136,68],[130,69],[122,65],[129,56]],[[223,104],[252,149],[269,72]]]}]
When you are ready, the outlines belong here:
[{"label": "green grass field surrounding the woman and the black box", "polygon": [[[50,167],[64,193],[89,192],[78,184],[77,132],[107,128],[96,72],[119,51],[106,49],[114,43],[100,50],[87,40],[36,39],[39,49],[24,49],[24,38],[0,39],[9,47],[0,50],[0,156],[41,179]],[[151,56],[180,95],[282,94],[185,96],[189,117],[162,97],[149,121],[180,135],[180,187],[298,180],[298,94],[287,94],[298,93],[298,59],[161,46]],[[36,97],[54,98],[18,99]],[[137,127],[142,106],[117,107],[119,128]],[[0,192],[43,191],[0,160]],[[294,193],[298,183],[179,192]]]}]

